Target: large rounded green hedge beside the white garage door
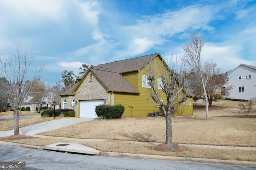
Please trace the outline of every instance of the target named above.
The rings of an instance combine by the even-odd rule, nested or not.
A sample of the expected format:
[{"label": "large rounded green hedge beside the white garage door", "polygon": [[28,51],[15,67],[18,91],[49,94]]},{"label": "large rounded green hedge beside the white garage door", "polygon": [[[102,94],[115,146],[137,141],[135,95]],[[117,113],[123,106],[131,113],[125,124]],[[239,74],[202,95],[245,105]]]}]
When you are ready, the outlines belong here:
[{"label": "large rounded green hedge beside the white garage door", "polygon": [[125,107],[121,104],[114,106],[99,105],[96,106],[95,112],[98,117],[102,117],[103,119],[118,119],[122,117],[124,109]]}]

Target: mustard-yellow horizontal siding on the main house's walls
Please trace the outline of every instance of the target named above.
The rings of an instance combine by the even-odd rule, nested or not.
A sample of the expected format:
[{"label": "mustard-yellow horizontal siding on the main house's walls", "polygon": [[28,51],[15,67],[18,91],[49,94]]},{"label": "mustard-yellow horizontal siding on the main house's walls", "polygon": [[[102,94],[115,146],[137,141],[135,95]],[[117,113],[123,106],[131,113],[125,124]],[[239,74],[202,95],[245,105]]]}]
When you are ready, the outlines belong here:
[{"label": "mustard-yellow horizontal siding on the main house's walls", "polygon": [[[160,78],[160,73],[162,72],[162,61],[159,57],[156,57],[154,61],[150,63],[150,67],[155,70],[155,82],[157,87],[157,78]],[[122,104],[125,107],[123,117],[134,117],[134,116],[148,116],[148,113],[154,113],[154,111],[159,111],[158,105],[152,101],[149,96],[149,88],[142,87],[142,75],[148,75],[146,66],[140,70],[140,72],[129,72],[122,74],[135,88],[138,89],[140,94],[129,94],[114,92],[114,104]],[[166,94],[162,90],[158,91],[161,100],[164,101],[164,105],[167,105]],[[190,99],[188,99],[190,100]],[[190,101],[188,101],[189,103]],[[193,114],[193,103],[191,100],[191,105],[184,105],[183,103],[176,106],[177,114],[180,115],[192,115]],[[192,109],[191,109],[192,108]]]}]

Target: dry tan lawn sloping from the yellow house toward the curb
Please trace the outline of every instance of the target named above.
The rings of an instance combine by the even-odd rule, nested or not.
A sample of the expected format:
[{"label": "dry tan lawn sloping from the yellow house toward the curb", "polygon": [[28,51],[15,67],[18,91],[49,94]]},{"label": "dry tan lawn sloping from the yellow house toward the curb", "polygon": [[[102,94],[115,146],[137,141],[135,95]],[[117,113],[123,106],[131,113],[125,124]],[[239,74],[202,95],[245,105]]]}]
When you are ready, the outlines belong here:
[{"label": "dry tan lawn sloping from the yellow house toward the curb", "polygon": [[[256,107],[246,116],[239,109],[240,102],[220,100],[209,107],[210,119],[205,119],[203,102],[197,102],[192,116],[174,116],[173,142],[180,144],[256,147]],[[122,119],[96,119],[69,127],[40,133],[40,135],[82,139],[110,139],[107,142],[76,141],[88,147],[107,152],[157,154],[196,158],[256,161],[256,151],[220,150],[185,147],[183,152],[156,151],[153,142],[165,142],[164,117],[127,117]],[[67,138],[1,139],[30,145],[48,145],[55,142],[75,142]],[[122,141],[117,141],[122,140]],[[130,141],[137,141],[131,143]],[[142,143],[148,142],[148,143]]]}]

